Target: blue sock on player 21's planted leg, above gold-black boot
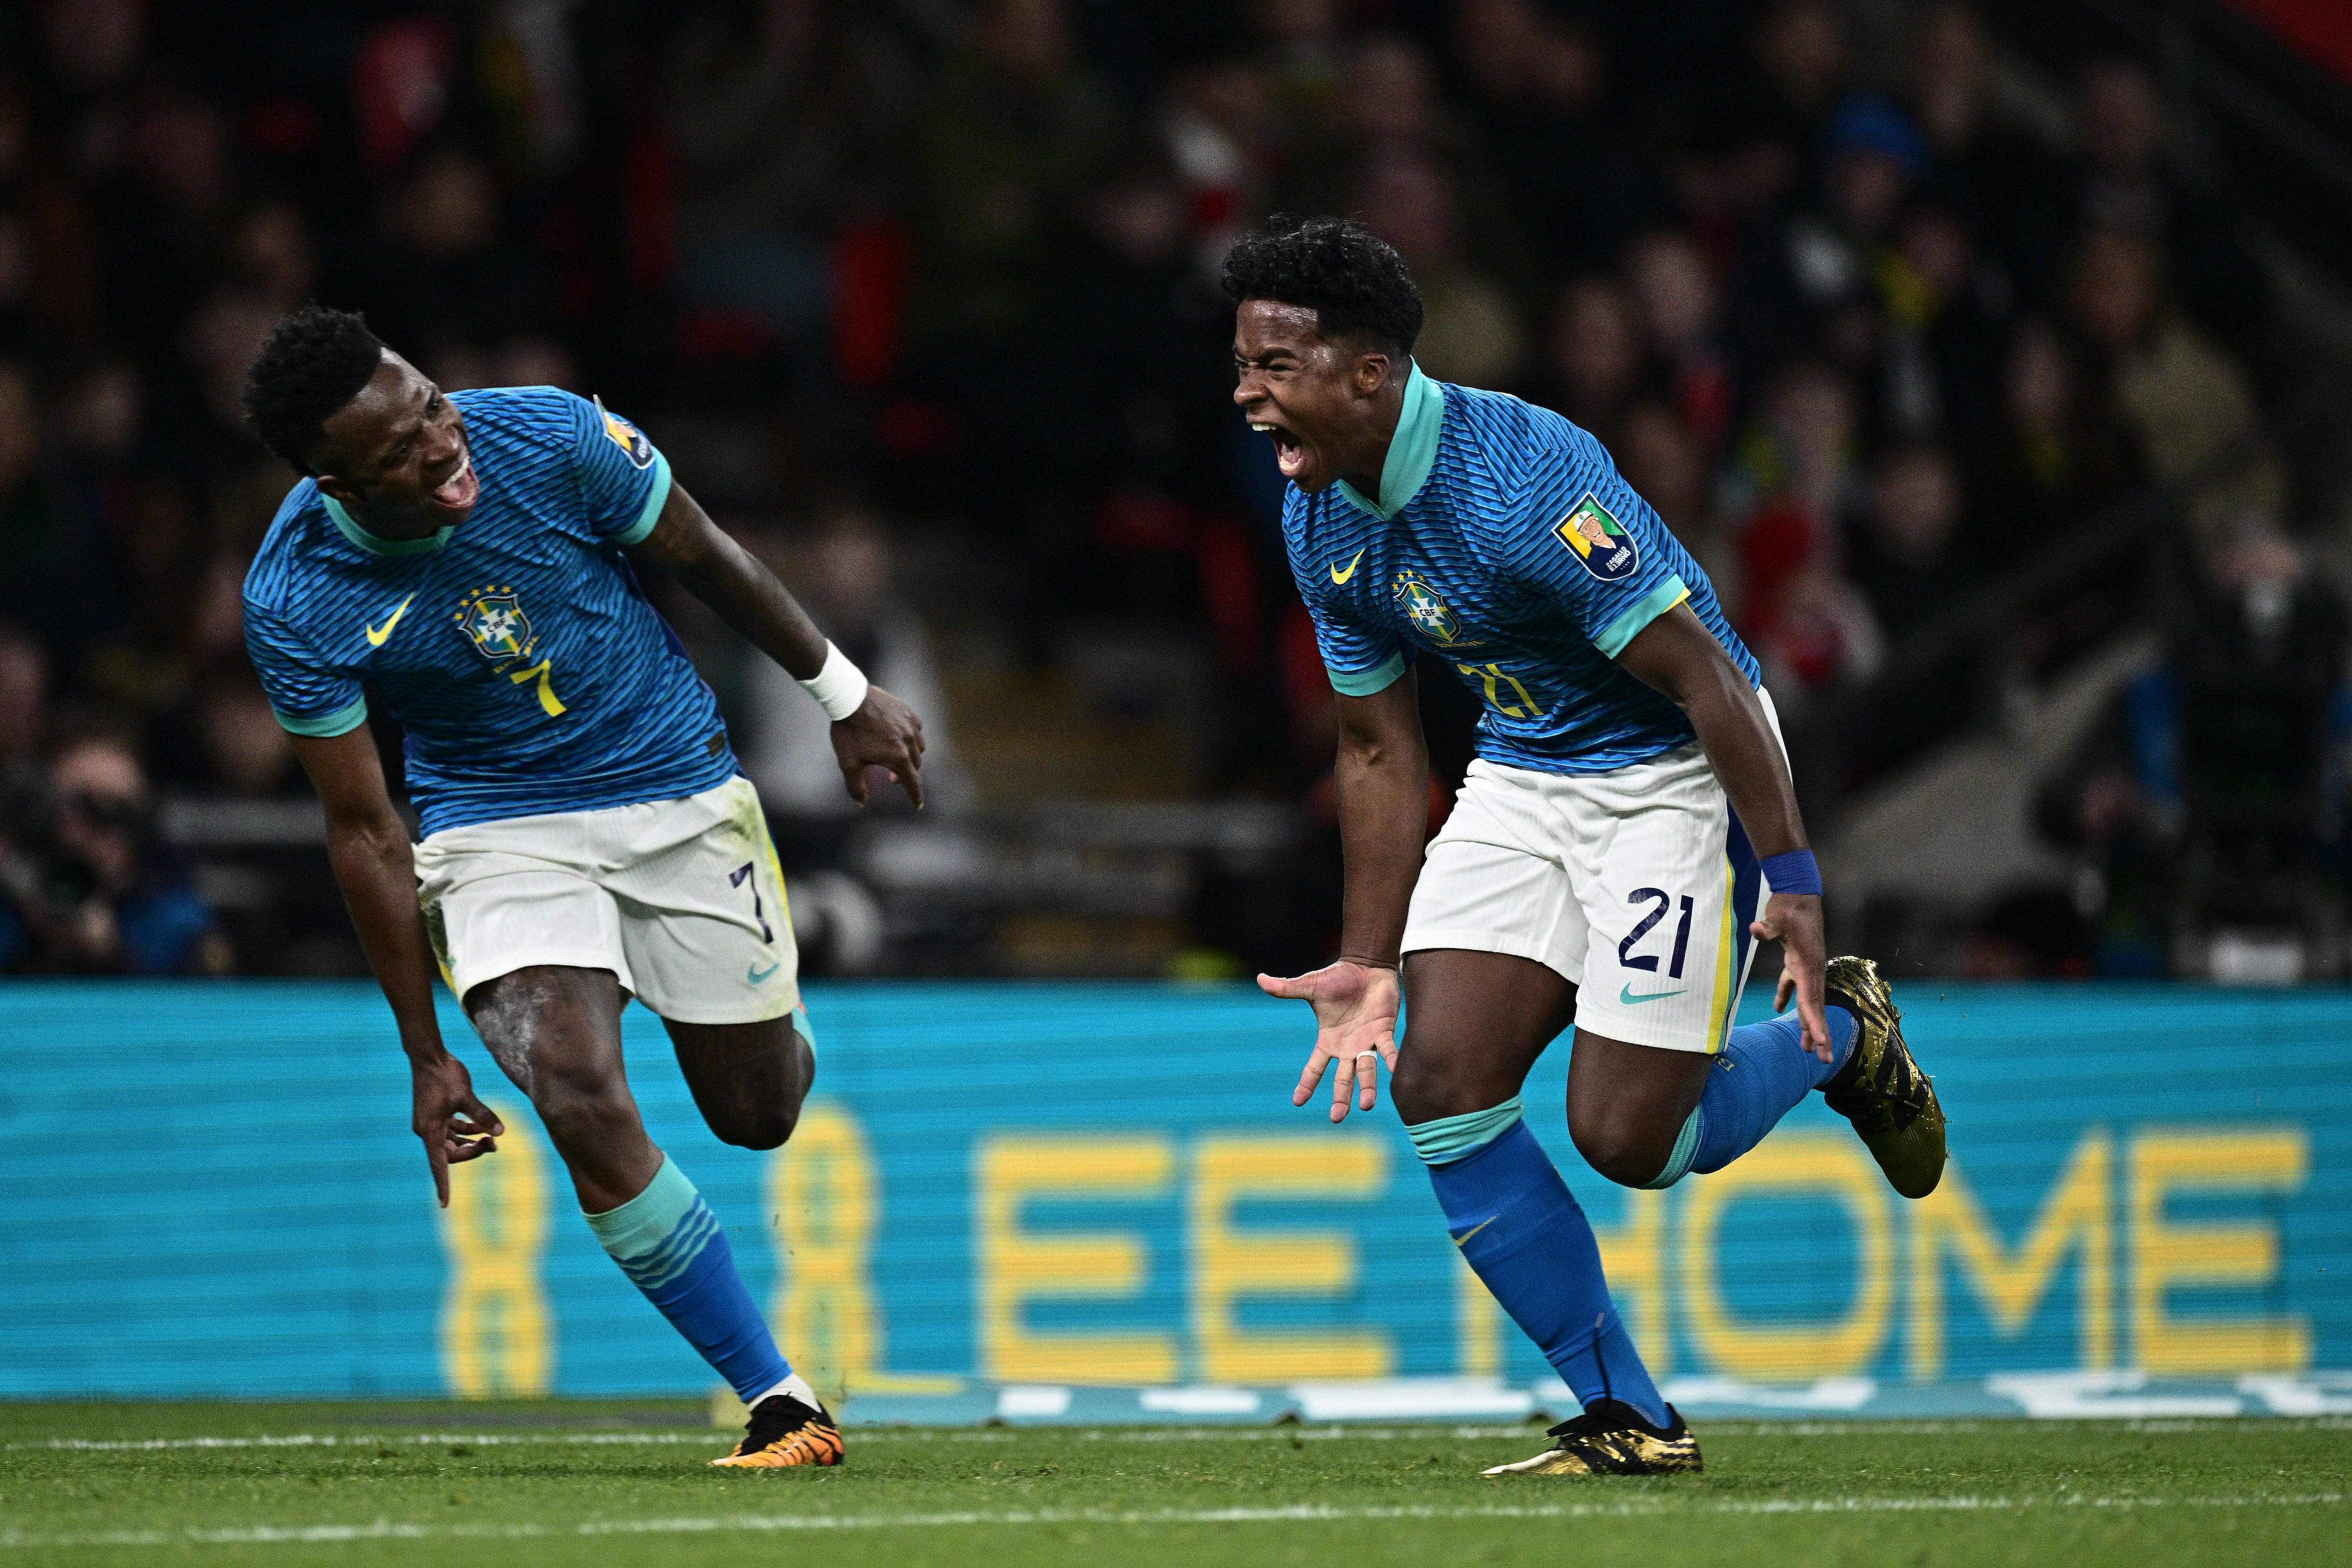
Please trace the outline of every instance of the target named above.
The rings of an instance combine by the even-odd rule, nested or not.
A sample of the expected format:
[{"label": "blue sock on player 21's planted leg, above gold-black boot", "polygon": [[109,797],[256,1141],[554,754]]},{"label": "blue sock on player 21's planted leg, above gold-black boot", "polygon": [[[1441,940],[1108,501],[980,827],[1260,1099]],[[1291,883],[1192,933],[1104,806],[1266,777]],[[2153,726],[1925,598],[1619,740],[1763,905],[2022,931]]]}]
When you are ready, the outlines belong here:
[{"label": "blue sock on player 21's planted leg, above gold-black boot", "polygon": [[[1454,1133],[1461,1124],[1470,1124],[1472,1135],[1486,1133],[1503,1110],[1517,1112],[1517,1103],[1423,1121],[1406,1133],[1423,1159],[1444,1157],[1458,1147]],[[1486,1281],[1576,1399],[1623,1399],[1642,1420],[1663,1427],[1665,1399],[1609,1300],[1592,1222],[1526,1121],[1512,1114],[1510,1126],[1472,1154],[1432,1164],[1430,1185],[1463,1262]]]}]

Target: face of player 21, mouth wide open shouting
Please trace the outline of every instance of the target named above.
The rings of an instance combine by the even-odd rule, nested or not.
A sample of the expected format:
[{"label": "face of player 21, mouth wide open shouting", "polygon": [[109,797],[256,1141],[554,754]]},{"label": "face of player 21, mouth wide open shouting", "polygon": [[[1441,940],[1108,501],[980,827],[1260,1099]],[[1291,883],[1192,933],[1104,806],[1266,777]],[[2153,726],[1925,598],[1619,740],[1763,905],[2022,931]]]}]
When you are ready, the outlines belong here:
[{"label": "face of player 21, mouth wide open shouting", "polygon": [[1388,383],[1388,355],[1334,343],[1315,320],[1268,299],[1232,315],[1232,400],[1275,444],[1282,477],[1308,494],[1355,473],[1378,444],[1374,395]]}]

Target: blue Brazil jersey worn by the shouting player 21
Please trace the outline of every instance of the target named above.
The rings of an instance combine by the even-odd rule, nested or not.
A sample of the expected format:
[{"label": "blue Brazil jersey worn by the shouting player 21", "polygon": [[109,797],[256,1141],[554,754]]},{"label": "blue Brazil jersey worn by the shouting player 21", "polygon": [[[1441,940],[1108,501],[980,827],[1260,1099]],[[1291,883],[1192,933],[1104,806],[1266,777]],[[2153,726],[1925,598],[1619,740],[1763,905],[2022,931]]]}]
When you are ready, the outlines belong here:
[{"label": "blue Brazil jersey worn by the shouting player 21", "polygon": [[1682,710],[1616,663],[1682,602],[1757,679],[1698,562],[1592,435],[1421,367],[1381,496],[1294,484],[1282,541],[1331,684],[1371,696],[1435,654],[1484,701],[1489,762],[1606,773],[1693,741]]}]

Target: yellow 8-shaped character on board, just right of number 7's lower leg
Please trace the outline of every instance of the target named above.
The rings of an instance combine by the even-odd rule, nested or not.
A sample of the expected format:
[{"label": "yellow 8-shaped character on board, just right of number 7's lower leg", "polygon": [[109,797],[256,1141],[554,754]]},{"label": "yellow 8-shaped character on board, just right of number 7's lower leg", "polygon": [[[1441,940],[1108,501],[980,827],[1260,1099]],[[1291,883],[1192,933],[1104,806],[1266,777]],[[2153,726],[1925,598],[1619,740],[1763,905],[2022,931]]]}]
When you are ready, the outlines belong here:
[{"label": "yellow 8-shaped character on board, just right of number 7's lower leg", "polygon": [[767,1204],[783,1265],[769,1321],[816,1392],[840,1406],[856,1394],[953,1394],[962,1387],[960,1378],[882,1371],[889,1321],[873,1286],[882,1175],[856,1117],[828,1100],[809,1105],[793,1140],[767,1166]]}]

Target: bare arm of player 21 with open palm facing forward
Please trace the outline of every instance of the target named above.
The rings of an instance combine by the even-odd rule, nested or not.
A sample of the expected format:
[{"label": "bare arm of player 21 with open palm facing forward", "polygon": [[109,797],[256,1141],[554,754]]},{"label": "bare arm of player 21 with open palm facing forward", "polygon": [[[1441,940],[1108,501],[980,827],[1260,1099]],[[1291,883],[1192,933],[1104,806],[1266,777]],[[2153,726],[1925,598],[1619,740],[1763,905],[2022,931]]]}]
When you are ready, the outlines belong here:
[{"label": "bare arm of player 21 with open palm facing forward", "polygon": [[1397,947],[1404,910],[1421,875],[1428,823],[1430,752],[1421,733],[1421,686],[1406,670],[1385,691],[1338,698],[1338,837],[1345,858],[1338,959],[1315,973],[1277,980],[1258,976],[1268,997],[1315,1009],[1315,1051],[1308,1056],[1291,1105],[1305,1105],[1324,1067],[1331,1119],[1348,1119],[1348,1103],[1378,1103],[1381,1065],[1397,1067]]}]

